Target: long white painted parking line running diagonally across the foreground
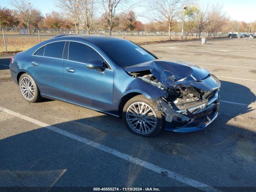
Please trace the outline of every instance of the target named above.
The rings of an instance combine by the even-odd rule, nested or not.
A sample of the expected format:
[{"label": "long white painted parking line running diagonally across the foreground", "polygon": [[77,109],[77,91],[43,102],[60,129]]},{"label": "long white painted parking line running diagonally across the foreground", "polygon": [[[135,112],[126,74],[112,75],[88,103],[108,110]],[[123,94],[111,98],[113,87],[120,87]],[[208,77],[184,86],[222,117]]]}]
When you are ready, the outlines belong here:
[{"label": "long white painted parking line running diagonally across the foreground", "polygon": [[119,157],[121,159],[127,160],[127,161],[132,162],[134,164],[137,164],[139,166],[142,166],[142,167],[144,167],[144,168],[146,168],[148,170],[152,170],[152,171],[154,171],[156,173],[160,173],[161,174],[162,172],[166,172],[166,173],[168,173],[167,176],[169,178],[175,179],[175,180],[177,180],[179,182],[182,182],[184,184],[190,185],[190,186],[192,186],[194,188],[198,188],[198,189],[206,191],[206,192],[220,192],[220,190],[218,190],[216,188],[212,188],[211,186],[208,186],[208,185],[203,184],[201,182],[192,180],[190,178],[187,178],[185,176],[182,176],[180,174],[172,172],[172,171],[170,171],[168,169],[161,168],[159,166],[156,166],[156,165],[151,164],[149,162],[146,162],[144,160],[135,158],[135,157],[130,156],[128,154],[124,154],[124,153],[119,152],[119,151],[117,151],[117,150],[115,150],[113,148],[104,146],[104,145],[99,144],[97,142],[88,140],[86,138],[83,138],[83,137],[80,137],[78,135],[72,134],[70,132],[64,131],[62,129],[56,128],[56,127],[54,127],[52,125],[48,125],[46,123],[40,122],[40,121],[38,121],[36,119],[33,119],[33,118],[28,117],[28,116],[22,115],[20,113],[17,113],[17,112],[14,112],[14,111],[8,110],[6,108],[2,108],[2,107],[0,107],[0,110],[3,111],[3,112],[8,113],[10,115],[16,116],[16,117],[21,118],[23,120],[26,120],[28,122],[32,122],[32,123],[34,123],[36,125],[39,125],[41,127],[44,127],[44,128],[49,129],[49,130],[52,130],[54,132],[57,132],[59,134],[62,134],[64,136],[66,136],[66,137],[69,137],[69,138],[72,138],[72,139],[77,140],[79,142],[82,142],[84,144],[87,144],[87,145],[89,145],[91,147],[97,148],[99,150],[102,150],[102,151],[107,152],[109,154],[112,154],[114,156],[117,156],[117,157]]}]

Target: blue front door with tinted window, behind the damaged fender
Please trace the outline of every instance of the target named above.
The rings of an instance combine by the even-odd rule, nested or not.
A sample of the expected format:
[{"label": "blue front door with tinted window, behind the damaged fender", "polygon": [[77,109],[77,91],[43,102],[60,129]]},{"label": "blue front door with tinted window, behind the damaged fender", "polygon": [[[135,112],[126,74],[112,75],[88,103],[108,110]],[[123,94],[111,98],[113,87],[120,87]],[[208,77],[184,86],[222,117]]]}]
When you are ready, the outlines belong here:
[{"label": "blue front door with tinted window, behind the damaged fender", "polygon": [[[92,60],[104,63],[104,70],[87,68]],[[113,70],[96,50],[86,44],[69,43],[68,60],[63,66],[66,100],[112,113],[113,79]]]}]

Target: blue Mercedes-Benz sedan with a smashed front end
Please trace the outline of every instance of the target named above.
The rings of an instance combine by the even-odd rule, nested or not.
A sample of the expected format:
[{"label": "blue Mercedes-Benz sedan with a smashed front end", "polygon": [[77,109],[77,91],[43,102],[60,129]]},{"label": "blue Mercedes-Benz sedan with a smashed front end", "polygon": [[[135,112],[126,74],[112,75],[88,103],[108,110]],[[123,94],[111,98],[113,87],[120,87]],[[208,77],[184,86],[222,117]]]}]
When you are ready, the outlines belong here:
[{"label": "blue Mercedes-Benz sedan with a smashed front end", "polygon": [[52,38],[16,54],[10,72],[28,102],[50,98],[111,114],[140,136],[204,129],[218,115],[214,75],[120,38]]}]

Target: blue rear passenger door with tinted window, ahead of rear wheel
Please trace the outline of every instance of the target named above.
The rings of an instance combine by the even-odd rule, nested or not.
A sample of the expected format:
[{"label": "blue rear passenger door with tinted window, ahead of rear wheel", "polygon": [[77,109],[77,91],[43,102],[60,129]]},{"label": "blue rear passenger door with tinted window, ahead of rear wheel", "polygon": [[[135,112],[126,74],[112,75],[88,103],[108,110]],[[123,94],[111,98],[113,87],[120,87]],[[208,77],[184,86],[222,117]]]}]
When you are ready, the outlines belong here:
[{"label": "blue rear passenger door with tinted window, ahead of rear wheel", "polygon": [[40,93],[54,98],[64,99],[62,78],[62,59],[65,41],[53,42],[37,50],[29,59],[29,71],[32,72]]}]

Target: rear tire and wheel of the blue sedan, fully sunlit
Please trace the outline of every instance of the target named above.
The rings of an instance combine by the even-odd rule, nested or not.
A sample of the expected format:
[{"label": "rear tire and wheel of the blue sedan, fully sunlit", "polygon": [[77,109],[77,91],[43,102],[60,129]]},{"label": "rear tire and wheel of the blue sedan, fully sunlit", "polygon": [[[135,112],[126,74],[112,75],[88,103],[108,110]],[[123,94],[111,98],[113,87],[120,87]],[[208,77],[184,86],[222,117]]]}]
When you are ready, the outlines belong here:
[{"label": "rear tire and wheel of the blue sedan, fully sunlit", "polygon": [[29,74],[24,73],[20,76],[19,87],[21,95],[26,101],[35,103],[42,100],[36,82]]}]

